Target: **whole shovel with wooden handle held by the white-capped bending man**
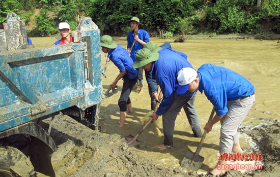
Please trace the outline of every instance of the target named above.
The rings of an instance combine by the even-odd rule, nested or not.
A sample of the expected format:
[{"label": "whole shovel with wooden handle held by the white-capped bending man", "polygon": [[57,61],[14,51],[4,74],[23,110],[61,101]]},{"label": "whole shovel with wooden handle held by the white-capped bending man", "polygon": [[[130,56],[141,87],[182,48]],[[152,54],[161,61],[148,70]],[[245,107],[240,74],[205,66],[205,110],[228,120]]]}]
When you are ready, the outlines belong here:
[{"label": "whole shovel with wooden handle held by the white-capped bending man", "polygon": [[[211,122],[211,120],[213,119],[214,113],[215,113],[215,109],[213,107],[209,120],[208,120],[208,123]],[[204,157],[200,156],[199,153],[202,148],[202,144],[205,139],[206,133],[207,133],[207,130],[204,130],[203,136],[200,140],[200,144],[194,153],[191,152],[190,150],[187,151],[185,157],[181,161],[182,167],[185,167],[185,168],[193,170],[193,171],[197,171],[198,169],[200,169],[202,162],[204,161]]]}]

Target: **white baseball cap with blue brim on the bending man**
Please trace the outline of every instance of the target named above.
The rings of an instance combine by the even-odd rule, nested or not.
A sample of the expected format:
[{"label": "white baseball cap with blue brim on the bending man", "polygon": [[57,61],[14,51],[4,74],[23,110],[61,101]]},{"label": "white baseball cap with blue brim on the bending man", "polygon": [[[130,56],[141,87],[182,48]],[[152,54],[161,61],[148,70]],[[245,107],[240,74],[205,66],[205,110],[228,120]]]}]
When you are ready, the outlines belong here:
[{"label": "white baseball cap with blue brim on the bending man", "polygon": [[191,67],[184,67],[178,72],[177,81],[179,86],[176,90],[178,94],[183,94],[188,90],[189,84],[197,78],[198,73]]}]

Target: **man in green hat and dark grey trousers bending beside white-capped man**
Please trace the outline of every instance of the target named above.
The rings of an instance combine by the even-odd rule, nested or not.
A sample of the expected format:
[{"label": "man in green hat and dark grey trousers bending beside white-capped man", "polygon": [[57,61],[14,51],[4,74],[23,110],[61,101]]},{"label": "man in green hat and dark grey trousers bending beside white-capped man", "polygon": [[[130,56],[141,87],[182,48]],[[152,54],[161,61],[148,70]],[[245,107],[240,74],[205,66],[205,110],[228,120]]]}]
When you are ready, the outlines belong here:
[{"label": "man in green hat and dark grey trousers bending beside white-capped man", "polygon": [[[192,65],[179,54],[169,48],[162,48],[158,52],[151,52],[149,49],[141,49],[136,54],[136,62],[132,67],[142,67],[151,71],[163,94],[163,99],[156,112],[150,115],[157,120],[162,115],[164,142],[157,146],[160,150],[173,147],[173,135],[177,113],[182,107],[192,127],[194,136],[202,136],[197,112],[194,108],[195,93],[184,93],[179,95],[175,92],[178,87],[177,74],[184,67]],[[158,95],[156,96],[158,99]]]}]

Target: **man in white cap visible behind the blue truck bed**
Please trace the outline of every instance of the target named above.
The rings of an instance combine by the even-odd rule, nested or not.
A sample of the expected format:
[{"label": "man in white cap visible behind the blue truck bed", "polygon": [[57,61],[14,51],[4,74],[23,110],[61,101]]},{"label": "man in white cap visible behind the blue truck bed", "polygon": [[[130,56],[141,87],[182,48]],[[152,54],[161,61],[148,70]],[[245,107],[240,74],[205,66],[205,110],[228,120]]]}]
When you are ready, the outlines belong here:
[{"label": "man in white cap visible behind the blue truck bed", "polygon": [[70,25],[66,22],[61,22],[59,24],[59,33],[61,36],[61,39],[58,41],[54,42],[54,46],[59,45],[59,44],[68,44],[72,43],[72,37],[70,36]]}]

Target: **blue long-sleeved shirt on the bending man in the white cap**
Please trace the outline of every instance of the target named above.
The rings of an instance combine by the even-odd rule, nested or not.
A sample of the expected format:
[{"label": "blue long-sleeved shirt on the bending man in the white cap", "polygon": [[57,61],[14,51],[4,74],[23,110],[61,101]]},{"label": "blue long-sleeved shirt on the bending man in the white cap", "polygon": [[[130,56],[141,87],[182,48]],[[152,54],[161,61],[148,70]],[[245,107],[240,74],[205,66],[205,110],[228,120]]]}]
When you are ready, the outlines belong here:
[{"label": "blue long-sleeved shirt on the bending man in the white cap", "polygon": [[198,69],[199,91],[206,95],[215,107],[216,114],[228,113],[228,100],[236,100],[254,93],[255,87],[246,78],[231,69],[204,64]]}]

